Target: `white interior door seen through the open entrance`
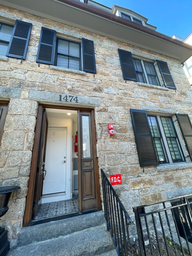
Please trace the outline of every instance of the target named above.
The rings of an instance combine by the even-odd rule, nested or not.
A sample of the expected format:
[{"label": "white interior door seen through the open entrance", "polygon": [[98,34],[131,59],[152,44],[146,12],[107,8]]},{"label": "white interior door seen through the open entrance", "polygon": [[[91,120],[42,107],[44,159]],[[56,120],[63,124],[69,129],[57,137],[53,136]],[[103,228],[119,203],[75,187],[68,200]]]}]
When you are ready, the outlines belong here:
[{"label": "white interior door seen through the open entrance", "polygon": [[48,127],[42,195],[66,191],[66,137],[66,128]]}]

